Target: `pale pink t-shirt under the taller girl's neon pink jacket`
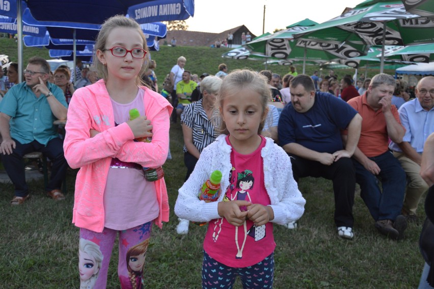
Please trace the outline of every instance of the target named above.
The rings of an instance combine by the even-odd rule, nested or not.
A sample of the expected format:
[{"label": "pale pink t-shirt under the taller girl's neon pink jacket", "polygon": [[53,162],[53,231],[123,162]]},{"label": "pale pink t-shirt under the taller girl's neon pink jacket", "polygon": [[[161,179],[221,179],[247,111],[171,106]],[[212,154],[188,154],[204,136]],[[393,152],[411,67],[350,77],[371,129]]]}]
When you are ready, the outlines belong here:
[{"label": "pale pink t-shirt under the taller girl's neon pink jacket", "polygon": [[[140,115],[145,115],[143,95],[144,91],[139,89],[134,100],[126,104],[111,99],[116,125],[129,120],[131,109],[138,109]],[[104,211],[104,227],[114,230],[154,220],[159,213],[155,183],[145,180],[142,169],[116,166],[112,162],[104,190]]]}]

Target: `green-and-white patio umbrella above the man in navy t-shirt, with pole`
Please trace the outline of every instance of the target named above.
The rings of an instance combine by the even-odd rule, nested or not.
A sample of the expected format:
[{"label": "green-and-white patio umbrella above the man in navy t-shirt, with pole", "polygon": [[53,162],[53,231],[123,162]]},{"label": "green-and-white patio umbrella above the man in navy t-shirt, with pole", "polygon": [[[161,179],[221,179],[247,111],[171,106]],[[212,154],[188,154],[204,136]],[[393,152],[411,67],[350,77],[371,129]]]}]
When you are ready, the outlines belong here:
[{"label": "green-and-white patio umbrella above the man in navy t-shirt, with pole", "polygon": [[[315,21],[305,19],[291,24],[285,30],[274,34],[260,36],[247,43],[245,47],[250,55],[263,56],[269,59],[283,59],[287,62],[302,63],[303,73],[306,63],[324,63],[344,57],[363,55],[365,44],[341,45],[334,43],[316,43],[313,41],[294,40],[294,33],[299,33],[317,25]],[[250,57],[251,57],[250,56]]]}]

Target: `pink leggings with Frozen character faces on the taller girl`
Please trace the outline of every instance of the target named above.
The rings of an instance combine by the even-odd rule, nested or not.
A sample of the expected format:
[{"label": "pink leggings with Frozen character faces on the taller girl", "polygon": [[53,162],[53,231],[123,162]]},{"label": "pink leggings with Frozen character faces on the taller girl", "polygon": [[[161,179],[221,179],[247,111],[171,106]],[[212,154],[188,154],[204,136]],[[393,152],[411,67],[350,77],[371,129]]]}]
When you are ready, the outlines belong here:
[{"label": "pink leggings with Frozen character faces on the taller girl", "polygon": [[104,228],[101,233],[80,228],[80,289],[106,287],[108,264],[118,232],[118,275],[121,287],[143,288],[142,274],[151,230],[152,222],[122,231]]}]

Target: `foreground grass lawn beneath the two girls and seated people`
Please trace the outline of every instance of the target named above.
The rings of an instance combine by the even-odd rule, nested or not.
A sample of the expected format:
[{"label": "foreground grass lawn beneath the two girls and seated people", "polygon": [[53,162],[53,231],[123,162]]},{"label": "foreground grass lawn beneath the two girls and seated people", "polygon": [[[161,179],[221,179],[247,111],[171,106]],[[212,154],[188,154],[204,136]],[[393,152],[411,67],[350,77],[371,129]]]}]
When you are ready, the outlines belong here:
[{"label": "foreground grass lawn beneath the two girls and seated people", "polygon": [[[200,288],[202,241],[206,226],[191,225],[177,235],[173,206],[185,177],[182,130],[171,127],[173,159],[165,166],[172,208],[162,230],[154,226],[145,265],[146,288]],[[0,280],[2,288],[77,288],[78,228],[71,224],[76,170],[68,172],[66,200],[45,196],[43,180],[30,182],[32,199],[11,206],[13,187],[0,184]],[[331,181],[303,178],[307,199],[299,229],[274,228],[275,288],[415,288],[423,260],[418,239],[421,224],[409,224],[406,238],[395,242],[377,233],[356,192],[355,239],[338,237],[333,221]],[[422,205],[419,214],[423,215]],[[116,245],[117,246],[117,245]],[[117,249],[114,249],[107,288],[119,288]],[[236,288],[240,288],[237,282]]]}]

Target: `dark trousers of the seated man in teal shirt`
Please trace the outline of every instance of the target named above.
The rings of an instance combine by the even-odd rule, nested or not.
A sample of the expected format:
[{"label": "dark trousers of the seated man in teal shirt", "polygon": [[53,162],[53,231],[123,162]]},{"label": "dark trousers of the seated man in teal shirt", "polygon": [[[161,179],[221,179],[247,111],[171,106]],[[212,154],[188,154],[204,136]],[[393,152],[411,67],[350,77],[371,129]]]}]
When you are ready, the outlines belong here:
[{"label": "dark trousers of the seated man in teal shirt", "polygon": [[60,138],[50,140],[46,146],[37,141],[21,144],[15,140],[16,148],[11,154],[2,154],[2,162],[9,178],[15,186],[15,196],[25,197],[29,194],[29,188],[25,182],[24,164],[22,156],[33,151],[40,151],[52,161],[51,176],[48,181],[47,191],[60,189],[65,178],[68,163],[63,153],[63,141]]}]

